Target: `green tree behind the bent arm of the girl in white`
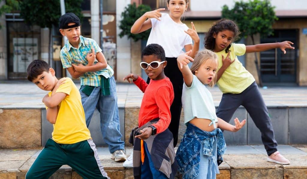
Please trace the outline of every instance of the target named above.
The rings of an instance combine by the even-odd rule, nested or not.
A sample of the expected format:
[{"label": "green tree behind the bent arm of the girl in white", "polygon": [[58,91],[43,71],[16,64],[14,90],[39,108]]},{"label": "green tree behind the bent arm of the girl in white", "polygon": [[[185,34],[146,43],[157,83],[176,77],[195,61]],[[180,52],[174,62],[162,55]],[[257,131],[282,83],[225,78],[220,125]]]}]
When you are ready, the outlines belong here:
[{"label": "green tree behind the bent arm of the girl in white", "polygon": [[151,11],[150,6],[141,4],[136,7],[135,2],[133,4],[129,4],[121,15],[122,20],[120,21],[119,29],[121,29],[122,31],[119,33],[119,37],[127,35],[128,39],[132,38],[134,41],[147,40],[150,34],[149,29],[138,34],[132,34],[130,32],[130,29],[134,22],[148,11]]}]

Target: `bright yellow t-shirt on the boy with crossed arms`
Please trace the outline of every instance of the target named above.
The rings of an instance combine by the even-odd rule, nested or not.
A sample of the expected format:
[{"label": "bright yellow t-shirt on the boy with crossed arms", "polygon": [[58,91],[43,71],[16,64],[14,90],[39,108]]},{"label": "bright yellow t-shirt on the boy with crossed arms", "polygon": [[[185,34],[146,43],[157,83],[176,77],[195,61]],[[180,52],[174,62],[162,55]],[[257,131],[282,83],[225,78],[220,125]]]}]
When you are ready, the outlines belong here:
[{"label": "bright yellow t-shirt on the boy with crossed arms", "polygon": [[[53,124],[52,139],[60,144],[73,144],[91,139],[90,131],[85,123],[85,114],[81,103],[81,95],[70,78],[56,90],[66,93],[66,97],[58,105],[56,123]],[[51,96],[52,91],[48,94]],[[48,109],[48,107],[46,107]]]}]

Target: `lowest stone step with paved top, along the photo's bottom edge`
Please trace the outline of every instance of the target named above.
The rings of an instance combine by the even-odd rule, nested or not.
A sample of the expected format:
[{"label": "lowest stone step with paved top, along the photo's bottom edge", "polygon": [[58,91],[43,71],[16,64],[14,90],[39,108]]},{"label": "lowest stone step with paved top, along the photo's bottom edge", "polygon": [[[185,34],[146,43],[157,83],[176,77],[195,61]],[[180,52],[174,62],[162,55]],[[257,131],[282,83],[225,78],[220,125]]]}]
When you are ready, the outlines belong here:
[{"label": "lowest stone step with paved top, along the photo's bottom edge", "polygon": [[[109,177],[114,179],[133,178],[131,168],[122,162],[110,159],[107,147],[97,147],[99,158]],[[290,160],[290,165],[279,165],[266,161],[263,145],[227,146],[224,162],[219,166],[217,178],[307,178],[307,145],[280,145],[278,150]],[[127,156],[132,152],[126,147]],[[39,149],[0,150],[0,178],[24,178]],[[62,166],[51,178],[81,178],[68,165]]]}]

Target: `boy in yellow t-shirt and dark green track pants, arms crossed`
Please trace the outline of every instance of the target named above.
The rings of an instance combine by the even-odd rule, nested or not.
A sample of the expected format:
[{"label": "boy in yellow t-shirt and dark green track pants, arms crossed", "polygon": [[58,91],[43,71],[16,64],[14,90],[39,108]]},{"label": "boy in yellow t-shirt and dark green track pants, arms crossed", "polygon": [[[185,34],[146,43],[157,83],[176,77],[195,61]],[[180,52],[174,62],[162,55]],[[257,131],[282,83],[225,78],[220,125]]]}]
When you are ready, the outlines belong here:
[{"label": "boy in yellow t-shirt and dark green track pants, arms crossed", "polygon": [[58,80],[55,71],[43,60],[31,62],[27,74],[38,88],[50,91],[43,103],[53,132],[25,178],[49,178],[62,165],[69,165],[83,178],[109,179],[86,127],[81,95],[73,81]]}]

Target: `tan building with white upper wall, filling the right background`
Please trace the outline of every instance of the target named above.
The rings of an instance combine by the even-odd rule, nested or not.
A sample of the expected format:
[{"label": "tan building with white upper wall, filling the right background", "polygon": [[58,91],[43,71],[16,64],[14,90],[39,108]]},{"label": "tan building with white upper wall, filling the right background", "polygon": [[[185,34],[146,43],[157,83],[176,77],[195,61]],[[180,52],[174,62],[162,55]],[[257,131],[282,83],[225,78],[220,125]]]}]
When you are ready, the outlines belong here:
[{"label": "tan building with white upper wall, filling the right background", "polygon": [[[166,7],[167,0],[131,0],[131,3],[133,2],[149,5],[154,10]],[[259,35],[256,35],[254,37],[255,43],[292,41],[295,50],[288,49],[285,55],[282,54],[280,49],[257,53],[261,80],[264,84],[269,85],[307,86],[307,71],[305,70],[307,69],[307,47],[304,45],[307,43],[307,2],[304,0],[271,0],[270,2],[275,6],[275,13],[278,17],[278,21],[273,25],[274,35],[266,38],[260,38]],[[184,14],[183,22],[191,27],[190,22],[193,21],[200,36],[200,49],[204,48],[204,38],[208,29],[221,18],[222,6],[226,4],[229,8],[232,8],[234,3],[233,1],[223,0],[216,0],[214,3],[204,0],[189,0],[189,8]],[[241,39],[239,43],[252,45],[250,37]],[[135,43],[131,45],[133,47],[131,56],[133,57],[139,57],[140,53],[137,52],[136,47],[138,48],[141,45],[138,44],[140,42],[137,45]],[[239,60],[253,74],[258,83],[255,54],[245,54],[239,57]],[[141,73],[135,68],[131,68],[132,72]]]}]

